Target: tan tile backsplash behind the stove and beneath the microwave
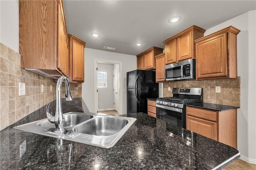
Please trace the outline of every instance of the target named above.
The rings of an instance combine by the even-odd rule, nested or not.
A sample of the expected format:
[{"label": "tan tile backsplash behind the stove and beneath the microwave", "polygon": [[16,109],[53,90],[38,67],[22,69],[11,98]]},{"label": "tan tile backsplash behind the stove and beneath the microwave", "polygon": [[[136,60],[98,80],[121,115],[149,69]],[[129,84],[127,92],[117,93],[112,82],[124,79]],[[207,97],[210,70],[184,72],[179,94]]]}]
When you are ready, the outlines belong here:
[{"label": "tan tile backsplash behind the stove and beneath the microwave", "polygon": [[[172,96],[172,88],[198,87],[203,88],[203,102],[240,107],[240,80],[224,78],[216,80],[187,80],[163,83],[163,97]],[[220,86],[220,93],[215,92],[215,86]],[[170,87],[170,91],[168,91]]]}]

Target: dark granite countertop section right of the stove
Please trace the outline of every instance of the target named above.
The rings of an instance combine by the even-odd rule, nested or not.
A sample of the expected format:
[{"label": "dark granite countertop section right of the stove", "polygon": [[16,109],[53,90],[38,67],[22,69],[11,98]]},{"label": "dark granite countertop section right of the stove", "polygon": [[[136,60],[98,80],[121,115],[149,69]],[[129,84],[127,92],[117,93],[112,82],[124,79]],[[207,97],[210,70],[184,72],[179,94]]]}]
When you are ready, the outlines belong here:
[{"label": "dark granite countertop section right of the stove", "polygon": [[193,106],[193,107],[198,107],[202,109],[211,109],[216,111],[225,111],[225,110],[240,108],[236,106],[227,106],[227,105],[211,104],[211,103],[192,103],[192,104],[186,104],[186,106]]}]

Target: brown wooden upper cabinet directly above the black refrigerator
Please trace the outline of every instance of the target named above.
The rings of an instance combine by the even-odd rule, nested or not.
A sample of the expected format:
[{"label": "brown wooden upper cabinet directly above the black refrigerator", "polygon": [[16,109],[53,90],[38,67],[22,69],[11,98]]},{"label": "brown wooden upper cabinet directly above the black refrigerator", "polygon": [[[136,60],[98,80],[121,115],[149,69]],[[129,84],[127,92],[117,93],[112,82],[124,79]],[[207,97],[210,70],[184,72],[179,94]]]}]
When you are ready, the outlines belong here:
[{"label": "brown wooden upper cabinet directly above the black refrigerator", "polygon": [[164,49],[151,47],[150,49],[136,55],[138,70],[151,70],[156,68],[155,56],[163,53]]}]

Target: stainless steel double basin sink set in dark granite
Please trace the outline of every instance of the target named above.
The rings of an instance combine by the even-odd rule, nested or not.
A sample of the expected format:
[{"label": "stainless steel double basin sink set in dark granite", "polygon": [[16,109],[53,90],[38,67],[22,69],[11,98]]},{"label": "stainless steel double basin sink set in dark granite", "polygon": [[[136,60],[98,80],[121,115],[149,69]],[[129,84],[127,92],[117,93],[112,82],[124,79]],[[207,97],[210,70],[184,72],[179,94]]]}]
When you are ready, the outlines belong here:
[{"label": "stainless steel double basin sink set in dark granite", "polygon": [[55,125],[48,121],[48,119],[15,126],[14,129],[102,148],[110,148],[118,142],[136,121],[136,118],[133,117],[119,117],[80,112],[65,113],[63,114],[63,117],[63,127],[65,130],[73,132],[72,135],[50,131],[49,129],[55,129]]}]

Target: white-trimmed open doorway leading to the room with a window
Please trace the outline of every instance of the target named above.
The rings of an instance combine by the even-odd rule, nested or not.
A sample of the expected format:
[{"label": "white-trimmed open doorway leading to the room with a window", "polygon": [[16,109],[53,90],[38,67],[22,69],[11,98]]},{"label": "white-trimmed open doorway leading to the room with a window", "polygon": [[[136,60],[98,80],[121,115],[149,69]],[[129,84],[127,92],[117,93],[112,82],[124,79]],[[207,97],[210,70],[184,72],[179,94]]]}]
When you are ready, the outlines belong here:
[{"label": "white-trimmed open doorway leading to the room with a window", "polygon": [[[105,64],[105,65],[104,65]],[[105,68],[112,66],[112,71],[109,73]],[[106,73],[105,73],[106,72]],[[98,77],[104,75],[106,79],[111,80],[111,82],[104,82],[107,80],[98,80]],[[112,77],[110,77],[112,76]],[[107,78],[108,77],[108,78]],[[122,84],[122,62],[120,61],[111,61],[104,59],[94,59],[94,111],[97,113],[106,113],[119,115],[122,114],[123,107],[123,84]],[[100,83],[99,83],[100,82]],[[104,84],[105,83],[105,84]],[[111,90],[107,94],[107,91]],[[108,106],[103,106],[104,104],[111,103]]]}]

